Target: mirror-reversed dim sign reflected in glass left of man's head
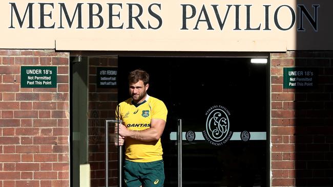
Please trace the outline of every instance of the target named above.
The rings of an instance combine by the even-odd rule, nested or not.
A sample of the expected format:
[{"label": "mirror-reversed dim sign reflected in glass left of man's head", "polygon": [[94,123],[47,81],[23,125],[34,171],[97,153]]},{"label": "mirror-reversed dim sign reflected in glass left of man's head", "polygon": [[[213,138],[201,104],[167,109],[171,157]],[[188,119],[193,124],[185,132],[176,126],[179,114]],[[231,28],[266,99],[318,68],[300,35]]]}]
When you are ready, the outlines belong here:
[{"label": "mirror-reversed dim sign reflected in glass left of man's head", "polygon": [[116,88],[117,74],[116,67],[97,67],[97,87]]}]

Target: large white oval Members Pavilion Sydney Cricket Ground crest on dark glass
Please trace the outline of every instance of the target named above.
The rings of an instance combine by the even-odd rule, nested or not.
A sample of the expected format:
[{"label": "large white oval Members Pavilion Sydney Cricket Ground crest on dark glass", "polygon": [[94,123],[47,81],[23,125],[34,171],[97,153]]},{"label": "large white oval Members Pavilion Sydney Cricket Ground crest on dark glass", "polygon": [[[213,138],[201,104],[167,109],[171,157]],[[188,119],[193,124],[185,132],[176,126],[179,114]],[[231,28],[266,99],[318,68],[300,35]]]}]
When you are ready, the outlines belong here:
[{"label": "large white oval Members Pavilion Sydney Cricket Ground crest on dark glass", "polygon": [[221,146],[229,141],[233,132],[230,131],[230,111],[224,106],[214,105],[206,113],[206,129],[202,132],[207,142]]}]

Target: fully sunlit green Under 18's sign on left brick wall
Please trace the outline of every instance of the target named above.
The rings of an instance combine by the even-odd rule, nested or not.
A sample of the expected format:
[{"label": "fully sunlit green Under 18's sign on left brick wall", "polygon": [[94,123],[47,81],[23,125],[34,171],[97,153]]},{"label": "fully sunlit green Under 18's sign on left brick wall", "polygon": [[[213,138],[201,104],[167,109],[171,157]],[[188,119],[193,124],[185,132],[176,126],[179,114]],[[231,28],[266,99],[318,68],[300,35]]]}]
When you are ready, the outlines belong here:
[{"label": "fully sunlit green Under 18's sign on left brick wall", "polygon": [[22,88],[56,88],[56,66],[21,66]]}]

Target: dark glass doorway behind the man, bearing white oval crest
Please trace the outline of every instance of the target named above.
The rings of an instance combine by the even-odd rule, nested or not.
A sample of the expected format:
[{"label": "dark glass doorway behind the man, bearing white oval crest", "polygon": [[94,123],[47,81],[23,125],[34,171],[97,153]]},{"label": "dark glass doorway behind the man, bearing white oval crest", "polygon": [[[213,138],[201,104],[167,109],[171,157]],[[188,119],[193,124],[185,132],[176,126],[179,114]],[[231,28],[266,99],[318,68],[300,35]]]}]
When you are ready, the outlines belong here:
[{"label": "dark glass doorway behind the man, bearing white oval crest", "polygon": [[118,101],[129,98],[127,75],[136,68],[150,74],[148,94],[169,111],[161,137],[164,186],[266,186],[267,64],[119,57]]}]

